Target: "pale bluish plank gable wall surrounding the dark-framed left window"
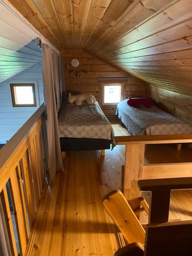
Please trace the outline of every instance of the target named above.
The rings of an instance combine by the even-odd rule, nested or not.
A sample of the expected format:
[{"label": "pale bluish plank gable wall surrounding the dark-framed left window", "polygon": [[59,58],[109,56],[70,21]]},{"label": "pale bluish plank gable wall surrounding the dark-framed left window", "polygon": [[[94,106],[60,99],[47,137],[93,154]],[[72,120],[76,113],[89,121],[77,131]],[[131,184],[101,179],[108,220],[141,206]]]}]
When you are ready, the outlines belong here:
[{"label": "pale bluish plank gable wall surrounding the dark-framed left window", "polygon": [[[35,83],[37,106],[14,107],[12,105],[10,83]],[[34,67],[11,77],[0,85],[0,144],[6,143],[30,116],[44,102],[42,65]]]}]

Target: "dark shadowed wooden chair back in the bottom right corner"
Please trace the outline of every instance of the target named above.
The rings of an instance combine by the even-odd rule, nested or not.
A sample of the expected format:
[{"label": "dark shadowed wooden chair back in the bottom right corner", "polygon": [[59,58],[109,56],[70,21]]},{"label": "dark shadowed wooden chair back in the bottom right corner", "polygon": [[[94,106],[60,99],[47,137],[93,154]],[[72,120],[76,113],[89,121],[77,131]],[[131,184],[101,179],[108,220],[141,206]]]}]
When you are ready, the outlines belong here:
[{"label": "dark shadowed wooden chair back in the bottom right corner", "polygon": [[168,214],[170,191],[192,188],[192,177],[140,180],[138,187],[151,191],[144,255],[191,256],[192,221],[168,222]]}]

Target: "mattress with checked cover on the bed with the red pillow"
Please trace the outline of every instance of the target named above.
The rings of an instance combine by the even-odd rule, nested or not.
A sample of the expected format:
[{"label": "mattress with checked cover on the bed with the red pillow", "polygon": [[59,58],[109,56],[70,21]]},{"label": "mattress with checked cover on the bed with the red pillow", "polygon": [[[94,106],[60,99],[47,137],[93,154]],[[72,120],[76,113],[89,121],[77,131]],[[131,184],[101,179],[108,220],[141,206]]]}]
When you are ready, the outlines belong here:
[{"label": "mattress with checked cover on the bed with the red pillow", "polygon": [[132,135],[190,134],[190,124],[174,117],[155,105],[136,109],[127,105],[127,99],[117,105],[116,114]]}]

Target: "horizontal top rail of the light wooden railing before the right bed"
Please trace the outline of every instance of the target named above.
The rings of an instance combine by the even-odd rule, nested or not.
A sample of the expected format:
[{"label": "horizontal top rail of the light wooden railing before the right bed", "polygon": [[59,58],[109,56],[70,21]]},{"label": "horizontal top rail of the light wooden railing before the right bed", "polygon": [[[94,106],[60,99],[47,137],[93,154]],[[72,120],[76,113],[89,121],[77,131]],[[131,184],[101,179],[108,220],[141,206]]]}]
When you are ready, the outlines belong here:
[{"label": "horizontal top rail of the light wooden railing before the right bed", "polygon": [[168,144],[192,142],[192,134],[115,136],[117,145],[127,144]]}]

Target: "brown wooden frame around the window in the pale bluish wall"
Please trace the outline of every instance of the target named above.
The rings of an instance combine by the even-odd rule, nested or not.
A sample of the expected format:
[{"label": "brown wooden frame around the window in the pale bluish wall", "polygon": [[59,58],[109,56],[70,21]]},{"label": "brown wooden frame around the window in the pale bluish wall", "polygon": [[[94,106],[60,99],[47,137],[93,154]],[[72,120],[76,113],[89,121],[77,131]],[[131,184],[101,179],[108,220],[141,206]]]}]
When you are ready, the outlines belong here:
[{"label": "brown wooden frame around the window in the pale bluish wall", "polygon": [[[15,103],[15,93],[14,93],[14,87],[32,87],[33,92],[33,104],[16,104]],[[10,89],[11,89],[11,99],[12,99],[12,105],[13,107],[26,107],[26,106],[37,106],[36,101],[36,93],[35,93],[35,84],[34,83],[10,83]]]}]

